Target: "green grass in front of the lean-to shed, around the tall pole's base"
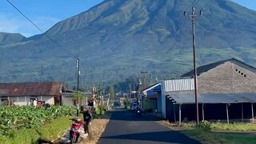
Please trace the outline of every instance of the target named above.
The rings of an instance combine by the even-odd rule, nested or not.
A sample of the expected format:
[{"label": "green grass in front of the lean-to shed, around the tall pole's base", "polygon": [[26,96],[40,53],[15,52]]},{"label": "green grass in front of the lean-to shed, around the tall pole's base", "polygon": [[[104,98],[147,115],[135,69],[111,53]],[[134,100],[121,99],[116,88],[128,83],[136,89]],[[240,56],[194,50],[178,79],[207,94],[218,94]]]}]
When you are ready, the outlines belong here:
[{"label": "green grass in front of the lean-to shed, around the tall pole's base", "polygon": [[256,143],[256,133],[246,133],[256,131],[256,125],[251,123],[202,122],[197,126],[195,122],[188,122],[182,123],[181,126],[193,128],[182,130],[182,133],[206,143]]}]

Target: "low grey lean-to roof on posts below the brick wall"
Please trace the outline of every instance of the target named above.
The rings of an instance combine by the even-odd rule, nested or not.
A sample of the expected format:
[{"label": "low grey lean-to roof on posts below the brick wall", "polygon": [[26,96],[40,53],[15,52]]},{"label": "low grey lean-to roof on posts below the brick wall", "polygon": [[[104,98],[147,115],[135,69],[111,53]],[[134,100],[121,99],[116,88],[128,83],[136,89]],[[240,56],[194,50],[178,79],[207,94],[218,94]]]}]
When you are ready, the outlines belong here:
[{"label": "low grey lean-to roof on posts below the brick wall", "polygon": [[[176,103],[192,104],[195,103],[194,90],[168,92]],[[256,94],[198,94],[198,103],[245,103],[256,102]]]}]

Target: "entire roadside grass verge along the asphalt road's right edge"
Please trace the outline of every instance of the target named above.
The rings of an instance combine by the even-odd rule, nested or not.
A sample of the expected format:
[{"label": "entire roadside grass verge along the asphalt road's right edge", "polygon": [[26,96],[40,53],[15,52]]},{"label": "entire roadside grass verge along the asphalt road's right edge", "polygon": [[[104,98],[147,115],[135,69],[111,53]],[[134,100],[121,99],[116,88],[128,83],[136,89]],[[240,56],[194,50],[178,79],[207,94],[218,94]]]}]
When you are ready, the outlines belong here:
[{"label": "entire roadside grass verge along the asphalt road's right edge", "polygon": [[[177,126],[166,121],[159,121],[163,126],[168,126],[173,130],[178,130],[182,134],[186,134],[190,138],[197,139],[202,143],[256,143],[255,133],[244,133],[241,131],[251,130],[250,124],[238,124],[234,126],[233,124],[227,126],[227,124],[214,124],[215,130],[203,130],[194,128],[194,125],[182,124],[182,126]],[[223,125],[223,126],[222,126]],[[242,125],[245,125],[244,127]],[[248,129],[246,129],[248,128]],[[225,131],[224,131],[225,130]],[[228,130],[228,131],[226,131]],[[235,131],[232,131],[235,130]],[[237,131],[240,130],[240,131]]]}]

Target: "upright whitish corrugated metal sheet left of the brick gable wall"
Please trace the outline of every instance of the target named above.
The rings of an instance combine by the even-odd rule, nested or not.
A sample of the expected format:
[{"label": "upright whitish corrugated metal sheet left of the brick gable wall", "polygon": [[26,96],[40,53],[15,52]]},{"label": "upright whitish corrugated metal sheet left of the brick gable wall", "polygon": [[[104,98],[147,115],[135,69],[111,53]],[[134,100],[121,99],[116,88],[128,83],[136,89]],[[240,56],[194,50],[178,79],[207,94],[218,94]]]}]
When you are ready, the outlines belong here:
[{"label": "upright whitish corrugated metal sheet left of the brick gable wall", "polygon": [[166,92],[194,90],[194,78],[164,80],[164,90]]}]

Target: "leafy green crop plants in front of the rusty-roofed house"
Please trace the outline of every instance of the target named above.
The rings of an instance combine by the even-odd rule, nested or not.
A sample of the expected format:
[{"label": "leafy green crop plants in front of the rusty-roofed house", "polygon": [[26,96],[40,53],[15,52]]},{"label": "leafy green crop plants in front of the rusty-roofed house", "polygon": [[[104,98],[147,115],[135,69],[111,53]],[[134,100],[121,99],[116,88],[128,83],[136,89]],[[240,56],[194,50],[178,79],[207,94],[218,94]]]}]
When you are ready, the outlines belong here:
[{"label": "leafy green crop plants in front of the rusty-roofed house", "polygon": [[14,130],[42,126],[69,114],[75,114],[73,106],[0,106],[0,135],[11,136]]}]

